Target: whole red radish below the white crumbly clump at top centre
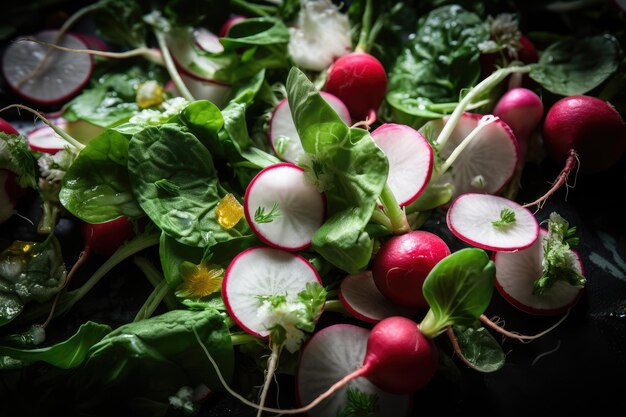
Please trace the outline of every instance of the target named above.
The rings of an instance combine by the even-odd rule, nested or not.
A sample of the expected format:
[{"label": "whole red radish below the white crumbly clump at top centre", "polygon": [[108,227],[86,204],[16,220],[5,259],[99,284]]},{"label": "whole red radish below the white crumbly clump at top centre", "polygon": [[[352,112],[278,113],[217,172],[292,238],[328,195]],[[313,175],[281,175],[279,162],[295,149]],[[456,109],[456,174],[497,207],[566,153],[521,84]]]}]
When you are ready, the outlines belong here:
[{"label": "whole red radish below the white crumbly clump at top centre", "polygon": [[324,91],[345,103],[355,120],[376,112],[387,92],[387,73],[378,59],[366,52],[339,57],[328,70]]}]

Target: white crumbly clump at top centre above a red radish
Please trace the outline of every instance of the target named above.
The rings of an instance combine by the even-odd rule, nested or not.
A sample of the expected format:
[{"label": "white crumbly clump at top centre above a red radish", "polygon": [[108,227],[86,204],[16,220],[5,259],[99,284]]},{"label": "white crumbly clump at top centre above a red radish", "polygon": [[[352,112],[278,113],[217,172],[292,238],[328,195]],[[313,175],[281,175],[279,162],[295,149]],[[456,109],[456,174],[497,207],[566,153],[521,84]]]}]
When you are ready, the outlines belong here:
[{"label": "white crumbly clump at top centre above a red radish", "polygon": [[352,50],[350,21],[330,0],[303,0],[289,28],[289,54],[305,70],[322,71]]}]

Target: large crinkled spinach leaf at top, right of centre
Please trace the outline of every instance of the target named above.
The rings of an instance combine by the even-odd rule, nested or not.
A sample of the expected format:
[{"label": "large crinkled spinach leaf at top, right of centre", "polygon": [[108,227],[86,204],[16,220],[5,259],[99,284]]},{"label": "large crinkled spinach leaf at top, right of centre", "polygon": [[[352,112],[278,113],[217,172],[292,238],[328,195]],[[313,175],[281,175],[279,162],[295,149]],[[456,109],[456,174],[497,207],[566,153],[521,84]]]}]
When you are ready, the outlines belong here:
[{"label": "large crinkled spinach leaf at top, right of centre", "polygon": [[389,73],[386,100],[394,118],[419,127],[452,112],[460,92],[480,76],[478,45],[488,39],[487,23],[459,5],[423,16]]}]

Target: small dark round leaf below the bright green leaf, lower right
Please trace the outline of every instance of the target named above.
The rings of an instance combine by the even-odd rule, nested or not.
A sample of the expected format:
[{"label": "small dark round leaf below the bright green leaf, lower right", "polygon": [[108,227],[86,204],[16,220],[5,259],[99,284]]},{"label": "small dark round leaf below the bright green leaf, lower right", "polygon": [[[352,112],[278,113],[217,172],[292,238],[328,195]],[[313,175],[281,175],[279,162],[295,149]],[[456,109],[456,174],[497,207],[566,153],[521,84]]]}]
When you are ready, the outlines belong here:
[{"label": "small dark round leaf below the bright green leaf, lower right", "polygon": [[463,356],[477,371],[494,372],[504,366],[506,356],[502,346],[480,322],[470,326],[455,325],[454,335]]}]

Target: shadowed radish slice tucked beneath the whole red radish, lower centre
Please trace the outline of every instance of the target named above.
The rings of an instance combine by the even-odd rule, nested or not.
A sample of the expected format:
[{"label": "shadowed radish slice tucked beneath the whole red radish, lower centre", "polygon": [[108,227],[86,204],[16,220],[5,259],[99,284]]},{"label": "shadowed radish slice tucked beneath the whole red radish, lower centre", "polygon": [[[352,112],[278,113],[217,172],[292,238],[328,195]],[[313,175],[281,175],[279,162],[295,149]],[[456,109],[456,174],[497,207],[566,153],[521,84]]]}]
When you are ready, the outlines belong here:
[{"label": "shadowed radish slice tucked beneath the whole red radish, lower centre", "polygon": [[371,271],[346,276],[339,286],[339,301],[350,314],[368,323],[392,316],[411,318],[417,313],[385,297],[376,287]]}]

